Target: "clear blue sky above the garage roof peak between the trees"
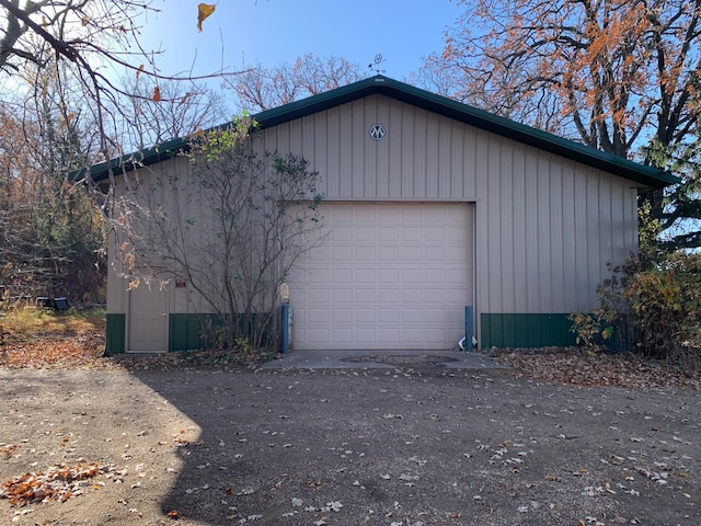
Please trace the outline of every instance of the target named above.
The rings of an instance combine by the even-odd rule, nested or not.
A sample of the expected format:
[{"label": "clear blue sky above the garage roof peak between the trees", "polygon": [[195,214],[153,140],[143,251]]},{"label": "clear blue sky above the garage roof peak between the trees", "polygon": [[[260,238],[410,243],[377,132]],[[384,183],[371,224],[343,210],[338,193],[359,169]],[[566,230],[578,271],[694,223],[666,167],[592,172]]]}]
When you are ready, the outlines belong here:
[{"label": "clear blue sky above the garage roof peak between the trees", "polygon": [[381,54],[383,75],[402,80],[443,49],[444,31],[464,9],[450,0],[219,0],[199,33],[198,3],[152,3],[161,12],[149,15],[141,43],[165,49],[157,59],[164,75],[271,68],[307,53],[367,67]]}]

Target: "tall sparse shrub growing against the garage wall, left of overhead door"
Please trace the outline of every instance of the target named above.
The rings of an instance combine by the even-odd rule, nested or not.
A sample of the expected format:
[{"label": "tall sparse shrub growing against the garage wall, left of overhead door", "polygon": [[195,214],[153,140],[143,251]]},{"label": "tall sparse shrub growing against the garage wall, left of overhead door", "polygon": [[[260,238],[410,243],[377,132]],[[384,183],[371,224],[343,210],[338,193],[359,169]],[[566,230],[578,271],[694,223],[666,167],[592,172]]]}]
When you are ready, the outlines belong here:
[{"label": "tall sparse shrub growing against the garage wall, left of overhead door", "polygon": [[279,286],[320,242],[317,173],[261,151],[250,118],[203,134],[168,171],[125,174],[115,205],[120,272],[133,283],[182,279],[215,342],[273,347]]}]

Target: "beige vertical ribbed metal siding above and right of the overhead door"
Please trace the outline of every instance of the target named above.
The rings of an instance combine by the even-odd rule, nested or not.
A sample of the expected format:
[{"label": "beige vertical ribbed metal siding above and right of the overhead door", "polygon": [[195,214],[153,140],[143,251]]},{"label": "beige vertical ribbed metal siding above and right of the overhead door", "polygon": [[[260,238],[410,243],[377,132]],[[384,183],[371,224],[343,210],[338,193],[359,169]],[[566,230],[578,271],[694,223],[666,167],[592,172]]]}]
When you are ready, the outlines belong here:
[{"label": "beige vertical ribbed metal siding above and right of the overhead door", "polygon": [[294,146],[327,201],[474,202],[478,313],[589,309],[636,248],[630,181],[382,95],[265,130],[267,150]]}]

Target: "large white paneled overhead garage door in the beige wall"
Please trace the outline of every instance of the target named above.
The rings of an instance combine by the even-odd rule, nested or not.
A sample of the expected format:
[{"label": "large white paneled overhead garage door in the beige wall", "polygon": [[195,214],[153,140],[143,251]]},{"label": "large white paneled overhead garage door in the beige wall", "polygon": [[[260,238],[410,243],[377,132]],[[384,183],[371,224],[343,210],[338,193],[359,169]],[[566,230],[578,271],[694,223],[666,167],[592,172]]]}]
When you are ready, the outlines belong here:
[{"label": "large white paneled overhead garage door in the beige wall", "polygon": [[472,302],[473,207],[324,203],[323,244],[290,279],[299,350],[453,347]]}]

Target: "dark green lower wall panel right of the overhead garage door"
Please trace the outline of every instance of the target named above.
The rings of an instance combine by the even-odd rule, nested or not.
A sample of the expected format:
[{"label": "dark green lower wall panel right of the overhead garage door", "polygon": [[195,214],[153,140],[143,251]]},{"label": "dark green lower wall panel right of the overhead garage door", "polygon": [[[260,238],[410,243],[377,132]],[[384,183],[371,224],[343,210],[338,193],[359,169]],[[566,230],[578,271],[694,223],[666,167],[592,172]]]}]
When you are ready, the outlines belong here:
[{"label": "dark green lower wall panel right of the overhead garage door", "polygon": [[483,313],[480,318],[482,348],[550,347],[576,344],[570,331],[570,313]]}]

